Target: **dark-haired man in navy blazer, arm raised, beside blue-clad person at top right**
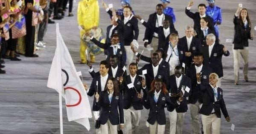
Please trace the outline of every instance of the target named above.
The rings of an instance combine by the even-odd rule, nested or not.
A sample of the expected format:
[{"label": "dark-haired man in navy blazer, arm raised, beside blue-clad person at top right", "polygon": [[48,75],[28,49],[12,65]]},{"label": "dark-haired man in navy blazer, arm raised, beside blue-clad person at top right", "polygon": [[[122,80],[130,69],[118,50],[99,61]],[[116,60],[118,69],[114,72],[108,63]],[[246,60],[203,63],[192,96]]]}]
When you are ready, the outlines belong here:
[{"label": "dark-haired man in navy blazer, arm raised, beside blue-clad person at top right", "polygon": [[207,19],[209,20],[209,25],[211,25],[213,27],[213,20],[211,17],[209,17],[207,14],[205,14],[206,12],[206,5],[205,4],[199,4],[198,5],[198,12],[192,13],[190,11],[191,6],[194,5],[194,1],[189,1],[188,6],[186,6],[185,9],[185,13],[188,17],[190,17],[191,19],[193,19],[194,21],[194,29],[195,31],[198,33],[198,31],[200,30],[201,26],[200,26],[200,20],[202,17],[207,17]]}]

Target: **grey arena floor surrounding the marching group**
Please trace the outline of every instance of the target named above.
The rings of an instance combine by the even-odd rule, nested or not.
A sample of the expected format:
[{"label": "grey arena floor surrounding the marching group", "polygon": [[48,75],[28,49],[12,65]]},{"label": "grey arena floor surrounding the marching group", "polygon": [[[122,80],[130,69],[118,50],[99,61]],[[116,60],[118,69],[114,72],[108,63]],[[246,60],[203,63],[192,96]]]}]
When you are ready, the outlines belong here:
[{"label": "grey arena floor surrounding the marching group", "polygon": [[[233,76],[233,52],[232,44],[225,43],[226,38],[233,38],[233,14],[237,5],[243,3],[249,9],[250,19],[253,27],[256,25],[256,1],[255,0],[216,0],[216,5],[222,8],[223,22],[220,26],[220,40],[231,54],[223,58],[224,79],[222,87],[224,99],[227,105],[231,123],[235,124],[235,131],[231,131],[231,123],[227,123],[224,117],[221,118],[222,134],[255,134],[256,133],[256,41],[249,41],[249,83],[240,81],[239,86],[234,86]],[[101,0],[99,0],[101,2]],[[114,7],[119,7],[119,0],[106,0],[113,3]],[[145,20],[148,15],[154,12],[155,5],[159,0],[131,0],[131,4],[136,14],[141,15]],[[175,9],[177,21],[176,29],[180,37],[184,36],[184,26],[193,23],[186,16],[184,10],[188,0],[173,0],[171,6]],[[192,11],[197,10],[199,3],[206,3],[205,0],[196,0]],[[73,13],[76,14],[77,1],[74,3]],[[105,32],[110,20],[104,9],[100,9],[100,27]],[[79,29],[77,28],[76,17],[65,17],[60,23],[60,31],[69,48],[77,71],[82,71],[84,80],[90,84],[92,78],[88,73],[86,65],[79,64]],[[139,43],[142,44],[145,28],[139,23],[140,35]],[[253,30],[254,33],[256,33]],[[59,109],[58,94],[55,90],[47,88],[47,78],[49,68],[55,51],[55,25],[49,24],[47,35],[44,38],[47,48],[38,51],[39,58],[26,58],[21,56],[22,61],[6,61],[6,74],[0,75],[0,134],[51,134],[60,133],[59,130]],[[140,46],[140,49],[143,46]],[[142,49],[141,49],[142,50]],[[140,51],[141,51],[140,50]],[[149,55],[148,51],[145,52]],[[98,70],[99,61],[103,54],[96,56],[95,69]],[[140,67],[143,66],[140,63]],[[241,73],[241,70],[240,70]],[[240,75],[240,80],[243,76]],[[90,103],[93,98],[90,97]],[[63,100],[64,101],[64,100]],[[64,104],[64,102],[63,102]],[[90,119],[91,130],[87,131],[78,123],[68,122],[66,108],[63,105],[63,125],[65,134],[92,134],[94,133],[94,122]],[[147,112],[142,111],[140,132],[149,133],[145,126]],[[167,123],[169,119],[166,118]],[[184,120],[184,134],[192,132],[190,112],[186,113]],[[166,134],[169,133],[169,123],[166,125]]]}]

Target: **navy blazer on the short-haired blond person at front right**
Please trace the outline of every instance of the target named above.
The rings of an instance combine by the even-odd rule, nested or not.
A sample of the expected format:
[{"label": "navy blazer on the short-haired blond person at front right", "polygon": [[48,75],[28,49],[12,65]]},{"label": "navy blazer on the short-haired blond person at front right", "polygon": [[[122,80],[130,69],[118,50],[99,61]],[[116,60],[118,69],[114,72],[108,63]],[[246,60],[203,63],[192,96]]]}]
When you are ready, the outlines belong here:
[{"label": "navy blazer on the short-haired blond person at front right", "polygon": [[199,84],[199,88],[204,93],[203,105],[199,111],[200,114],[210,115],[212,113],[212,109],[214,108],[214,111],[218,118],[221,117],[221,111],[225,118],[229,116],[227,113],[227,108],[223,99],[223,91],[221,88],[217,88],[218,99],[216,102],[214,99],[214,92],[209,84],[207,86]]}]

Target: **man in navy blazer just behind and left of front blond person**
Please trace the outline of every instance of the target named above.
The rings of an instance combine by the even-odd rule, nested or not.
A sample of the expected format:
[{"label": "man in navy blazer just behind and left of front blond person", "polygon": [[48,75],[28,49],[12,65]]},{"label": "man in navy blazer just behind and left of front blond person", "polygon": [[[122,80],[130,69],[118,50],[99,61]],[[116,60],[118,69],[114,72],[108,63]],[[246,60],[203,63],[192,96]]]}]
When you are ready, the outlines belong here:
[{"label": "man in navy blazer just behind and left of front blond person", "polygon": [[[202,53],[196,53],[193,56],[193,62],[195,65],[191,66],[186,76],[191,79],[191,90],[189,94],[189,106],[190,114],[192,118],[192,132],[193,134],[200,134],[200,126],[198,120],[198,112],[202,103],[203,94],[200,91],[198,84],[206,86],[209,83],[209,74],[212,72],[212,69],[208,66],[203,65],[204,56]],[[198,82],[196,75],[201,74],[201,82]],[[201,130],[202,131],[202,130]]]}]

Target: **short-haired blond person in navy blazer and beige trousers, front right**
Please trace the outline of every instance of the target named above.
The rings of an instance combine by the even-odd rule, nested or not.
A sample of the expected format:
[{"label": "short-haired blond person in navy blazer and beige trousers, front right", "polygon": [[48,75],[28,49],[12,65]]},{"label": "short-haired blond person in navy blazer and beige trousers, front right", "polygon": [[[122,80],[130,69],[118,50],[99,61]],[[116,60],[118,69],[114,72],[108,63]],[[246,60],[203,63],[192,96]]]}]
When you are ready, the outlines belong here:
[{"label": "short-haired blond person in navy blazer and beige trousers, front right", "polygon": [[[197,81],[201,81],[201,75],[197,74]],[[209,75],[209,84],[204,86],[199,84],[200,90],[203,92],[203,105],[199,111],[202,116],[202,123],[205,134],[220,134],[221,129],[221,111],[227,122],[230,117],[223,99],[223,90],[218,87],[218,74]]]}]

